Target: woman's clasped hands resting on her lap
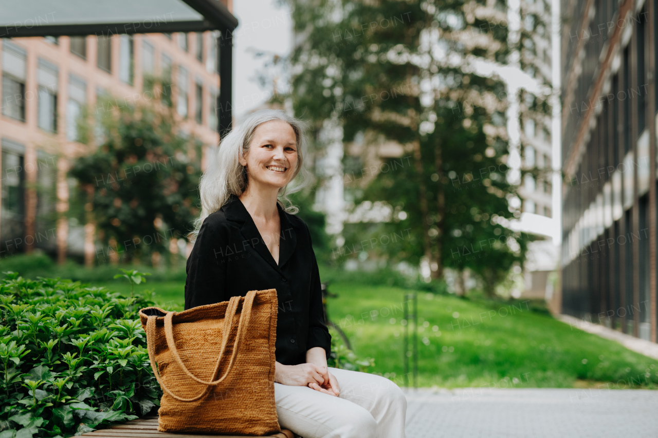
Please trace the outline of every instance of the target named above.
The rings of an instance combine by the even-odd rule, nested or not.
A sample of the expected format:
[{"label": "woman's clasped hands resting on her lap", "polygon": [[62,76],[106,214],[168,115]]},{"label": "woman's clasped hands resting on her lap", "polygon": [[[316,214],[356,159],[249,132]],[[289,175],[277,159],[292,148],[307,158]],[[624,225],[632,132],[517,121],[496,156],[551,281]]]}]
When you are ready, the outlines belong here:
[{"label": "woman's clasped hands resting on her lap", "polygon": [[282,385],[308,386],[311,389],[338,397],[340,388],[336,376],[325,365],[305,363],[284,365],[276,362],[274,381]]}]

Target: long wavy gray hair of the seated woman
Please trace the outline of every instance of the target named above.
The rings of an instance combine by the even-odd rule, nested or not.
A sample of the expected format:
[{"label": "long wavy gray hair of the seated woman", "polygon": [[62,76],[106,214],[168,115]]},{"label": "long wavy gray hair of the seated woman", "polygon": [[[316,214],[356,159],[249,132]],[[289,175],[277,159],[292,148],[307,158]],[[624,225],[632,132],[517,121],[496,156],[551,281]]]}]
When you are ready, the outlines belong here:
[{"label": "long wavy gray hair of the seated woman", "polygon": [[[288,194],[300,191],[309,181],[309,172],[303,167],[307,140],[303,122],[293,116],[289,116],[284,110],[263,109],[250,114],[238,128],[232,130],[228,135],[221,139],[218,147],[209,149],[206,158],[206,170],[199,181],[199,192],[201,195],[201,216],[194,220],[194,231],[188,234],[191,242],[194,242],[201,229],[203,220],[209,214],[216,212],[226,204],[230,195],[240,196],[247,189],[249,182],[247,171],[240,164],[240,158],[245,157],[249,151],[249,145],[253,140],[256,128],[270,120],[282,120],[287,122],[295,132],[297,137],[297,167],[293,172],[292,180],[294,184],[289,183],[292,187],[281,187],[278,192],[276,203],[286,212],[295,214],[299,208],[292,205],[288,199]],[[284,205],[284,201],[287,205]]]}]

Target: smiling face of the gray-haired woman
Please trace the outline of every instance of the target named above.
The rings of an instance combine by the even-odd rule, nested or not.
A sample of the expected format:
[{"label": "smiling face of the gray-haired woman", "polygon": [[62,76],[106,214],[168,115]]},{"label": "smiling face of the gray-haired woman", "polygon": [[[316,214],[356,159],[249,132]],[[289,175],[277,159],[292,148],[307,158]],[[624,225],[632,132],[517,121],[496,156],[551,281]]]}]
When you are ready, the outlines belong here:
[{"label": "smiling face of the gray-haired woman", "polygon": [[260,124],[240,164],[247,166],[252,187],[285,187],[297,166],[297,137],[292,126],[283,120]]}]

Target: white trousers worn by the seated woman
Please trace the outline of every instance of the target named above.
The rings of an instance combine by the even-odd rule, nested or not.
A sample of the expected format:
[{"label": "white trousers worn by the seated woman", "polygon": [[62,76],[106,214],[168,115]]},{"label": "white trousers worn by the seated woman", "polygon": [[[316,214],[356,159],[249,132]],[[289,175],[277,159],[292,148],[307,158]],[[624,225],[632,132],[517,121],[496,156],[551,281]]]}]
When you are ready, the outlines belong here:
[{"label": "white trousers worn by the seated woman", "polygon": [[302,438],[405,438],[407,397],[386,377],[328,368],[335,397],[307,386],[274,383],[279,424]]}]

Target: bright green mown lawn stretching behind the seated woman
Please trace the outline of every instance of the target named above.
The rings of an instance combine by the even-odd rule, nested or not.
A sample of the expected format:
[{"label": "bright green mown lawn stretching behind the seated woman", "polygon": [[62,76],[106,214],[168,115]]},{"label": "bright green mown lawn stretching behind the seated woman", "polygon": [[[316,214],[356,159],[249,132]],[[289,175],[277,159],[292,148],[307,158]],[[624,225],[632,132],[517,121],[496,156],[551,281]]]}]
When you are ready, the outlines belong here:
[{"label": "bright green mown lawn stretching behind the seated woman", "polygon": [[[127,283],[103,285],[129,294]],[[165,310],[182,310],[184,283],[148,282]],[[328,312],[374,372],[403,383],[403,293],[332,283]],[[418,293],[418,385],[422,387],[658,387],[658,361],[514,304]],[[410,379],[411,381],[411,379]]]}]

